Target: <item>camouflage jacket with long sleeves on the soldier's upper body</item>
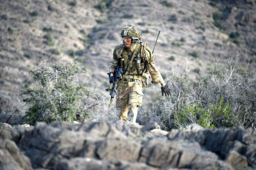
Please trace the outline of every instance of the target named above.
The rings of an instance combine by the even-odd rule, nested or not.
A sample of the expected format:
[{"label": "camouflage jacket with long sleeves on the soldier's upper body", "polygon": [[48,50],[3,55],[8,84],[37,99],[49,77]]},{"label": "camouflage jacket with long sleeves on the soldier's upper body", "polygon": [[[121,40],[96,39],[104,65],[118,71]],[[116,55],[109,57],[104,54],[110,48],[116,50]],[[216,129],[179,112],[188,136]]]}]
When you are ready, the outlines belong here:
[{"label": "camouflage jacket with long sleeves on the soldier's upper body", "polygon": [[[131,57],[133,56],[134,50],[135,50],[134,44],[131,45],[130,48],[125,48],[123,46],[123,44],[115,46],[114,52],[113,52],[113,58],[109,64],[109,72],[108,73],[110,73],[110,72],[114,73],[115,68],[117,67],[118,63],[122,63],[122,61],[124,61],[123,70],[126,70],[127,66],[130,63]],[[142,56],[141,57],[141,67],[139,67],[139,71],[138,71],[138,67],[136,65],[137,59],[138,59],[138,55],[137,55],[138,53],[142,54],[141,55]],[[133,62],[131,63],[130,70],[127,70],[128,71],[127,74],[138,76],[139,75],[138,73],[147,72],[147,70],[149,71],[149,73],[152,77],[152,83],[156,84],[156,83],[164,82],[162,75],[159,73],[157,67],[155,66],[153,54],[152,54],[150,48],[148,48],[147,45],[138,43],[137,51],[135,53]]]}]

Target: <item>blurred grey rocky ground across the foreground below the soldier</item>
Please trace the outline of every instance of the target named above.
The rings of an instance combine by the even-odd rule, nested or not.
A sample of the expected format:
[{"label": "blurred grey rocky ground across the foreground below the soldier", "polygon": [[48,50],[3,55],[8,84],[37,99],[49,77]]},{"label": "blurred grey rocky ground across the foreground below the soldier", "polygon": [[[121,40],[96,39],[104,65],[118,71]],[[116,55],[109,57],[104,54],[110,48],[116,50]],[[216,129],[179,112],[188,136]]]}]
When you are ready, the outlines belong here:
[{"label": "blurred grey rocky ground across the foreground below the soldier", "polygon": [[155,123],[0,124],[0,169],[253,169],[256,131]]}]

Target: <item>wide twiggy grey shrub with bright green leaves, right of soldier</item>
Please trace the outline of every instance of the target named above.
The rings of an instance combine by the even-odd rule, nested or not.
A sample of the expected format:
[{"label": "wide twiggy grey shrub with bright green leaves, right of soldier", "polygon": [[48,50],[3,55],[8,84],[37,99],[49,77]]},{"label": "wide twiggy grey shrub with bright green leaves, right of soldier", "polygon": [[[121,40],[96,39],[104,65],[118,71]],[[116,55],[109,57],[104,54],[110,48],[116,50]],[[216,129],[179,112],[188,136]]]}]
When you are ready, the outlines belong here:
[{"label": "wide twiggy grey shrub with bright green leaves, right of soldier", "polygon": [[162,129],[182,129],[193,123],[204,128],[256,128],[256,76],[238,65],[238,58],[230,58],[227,65],[213,63],[196,80],[183,68],[172,69],[168,79],[171,96],[156,96],[147,116]]}]

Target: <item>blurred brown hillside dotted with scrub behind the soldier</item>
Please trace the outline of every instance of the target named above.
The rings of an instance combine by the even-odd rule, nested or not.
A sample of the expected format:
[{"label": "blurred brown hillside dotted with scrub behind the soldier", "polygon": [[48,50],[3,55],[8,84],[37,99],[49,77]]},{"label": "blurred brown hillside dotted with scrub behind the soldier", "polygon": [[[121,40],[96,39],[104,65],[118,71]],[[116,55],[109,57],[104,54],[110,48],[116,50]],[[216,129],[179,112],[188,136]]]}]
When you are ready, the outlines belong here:
[{"label": "blurred brown hillside dotted with scrub behind the soldier", "polygon": [[236,52],[242,64],[256,67],[254,0],[17,0],[0,1],[0,8],[0,90],[9,96],[31,87],[28,71],[52,59],[79,61],[87,71],[81,82],[108,95],[106,71],[125,25],[141,29],[151,49],[161,31],[154,56],[164,77],[186,58],[196,74]]}]

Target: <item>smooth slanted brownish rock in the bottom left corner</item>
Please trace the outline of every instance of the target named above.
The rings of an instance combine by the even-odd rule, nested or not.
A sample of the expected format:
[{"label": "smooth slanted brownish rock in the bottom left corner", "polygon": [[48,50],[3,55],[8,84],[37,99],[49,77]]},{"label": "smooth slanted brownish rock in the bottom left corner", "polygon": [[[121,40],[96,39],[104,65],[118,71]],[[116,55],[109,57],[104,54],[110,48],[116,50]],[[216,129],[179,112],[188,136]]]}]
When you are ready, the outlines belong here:
[{"label": "smooth slanted brownish rock in the bottom left corner", "polygon": [[13,141],[0,139],[0,169],[32,169],[30,160],[23,155]]}]

